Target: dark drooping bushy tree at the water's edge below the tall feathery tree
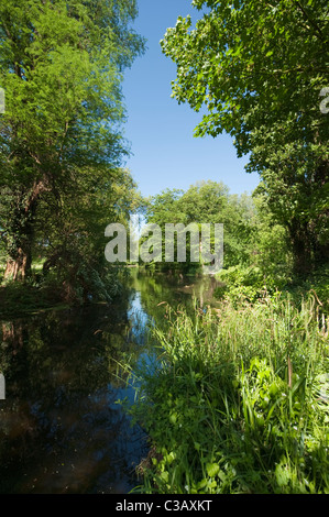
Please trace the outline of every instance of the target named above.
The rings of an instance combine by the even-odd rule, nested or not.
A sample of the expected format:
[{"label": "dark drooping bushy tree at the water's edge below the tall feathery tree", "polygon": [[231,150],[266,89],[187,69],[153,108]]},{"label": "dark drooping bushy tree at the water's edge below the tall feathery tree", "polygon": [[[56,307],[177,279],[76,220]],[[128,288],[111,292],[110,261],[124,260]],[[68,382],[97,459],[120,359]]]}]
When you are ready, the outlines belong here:
[{"label": "dark drooping bushy tree at the water's edge below the tall feathery tree", "polygon": [[80,170],[69,191],[50,193],[39,205],[33,251],[44,263],[37,277],[69,302],[109,301],[120,287],[118,267],[105,257],[105,229],[127,226],[141,200],[129,170],[106,173]]}]

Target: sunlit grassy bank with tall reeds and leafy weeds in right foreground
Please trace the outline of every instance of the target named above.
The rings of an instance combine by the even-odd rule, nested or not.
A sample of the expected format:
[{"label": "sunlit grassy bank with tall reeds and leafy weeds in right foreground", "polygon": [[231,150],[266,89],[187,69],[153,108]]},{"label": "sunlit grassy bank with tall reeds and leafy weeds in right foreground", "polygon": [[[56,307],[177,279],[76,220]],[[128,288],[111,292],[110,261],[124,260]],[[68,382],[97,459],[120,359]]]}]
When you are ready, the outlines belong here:
[{"label": "sunlit grassy bank with tall reeds and leafy weeds in right foreground", "polygon": [[138,490],[328,493],[329,321],[316,297],[166,316],[130,408],[152,442]]}]

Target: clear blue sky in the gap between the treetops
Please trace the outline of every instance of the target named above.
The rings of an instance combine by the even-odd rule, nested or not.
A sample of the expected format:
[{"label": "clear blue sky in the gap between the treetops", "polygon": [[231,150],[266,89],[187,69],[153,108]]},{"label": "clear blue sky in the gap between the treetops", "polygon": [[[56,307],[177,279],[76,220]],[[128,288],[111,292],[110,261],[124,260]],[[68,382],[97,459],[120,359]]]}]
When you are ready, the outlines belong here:
[{"label": "clear blue sky in the gap between the treetops", "polygon": [[252,193],[257,174],[244,170],[245,158],[238,158],[232,138],[219,135],[196,139],[193,133],[201,114],[171,98],[175,64],[162,54],[160,40],[178,15],[200,13],[190,0],[138,0],[134,30],[146,37],[147,50],[125,72],[123,95],[128,112],[125,138],[133,155],[125,166],[139,189],[152,196],[166,188],[186,190],[202,179],[222,182],[231,194]]}]

